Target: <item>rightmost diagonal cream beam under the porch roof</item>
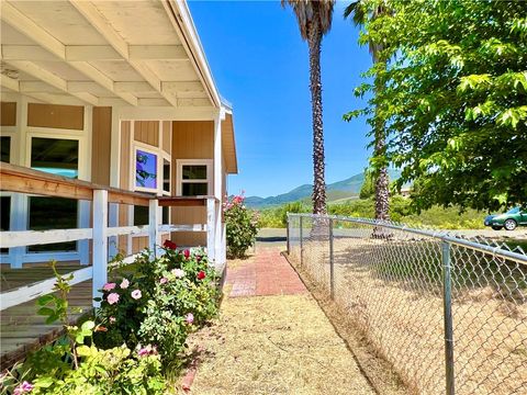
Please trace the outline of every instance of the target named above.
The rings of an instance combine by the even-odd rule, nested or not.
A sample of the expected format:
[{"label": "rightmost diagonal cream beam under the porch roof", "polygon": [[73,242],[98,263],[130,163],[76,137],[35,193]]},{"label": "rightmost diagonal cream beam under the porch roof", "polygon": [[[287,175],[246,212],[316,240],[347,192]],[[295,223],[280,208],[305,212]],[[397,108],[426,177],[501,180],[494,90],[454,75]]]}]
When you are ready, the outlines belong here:
[{"label": "rightmost diagonal cream beam under the porch roof", "polygon": [[[124,58],[130,65],[159,92],[171,105],[177,106],[178,100],[172,94],[161,91],[161,80],[143,61],[131,57],[128,44],[119,35],[109,21],[103,18],[97,7],[89,1],[70,0],[77,11],[101,34],[104,40]],[[133,52],[133,50],[132,50]],[[122,94],[122,93],[121,93]]]}]

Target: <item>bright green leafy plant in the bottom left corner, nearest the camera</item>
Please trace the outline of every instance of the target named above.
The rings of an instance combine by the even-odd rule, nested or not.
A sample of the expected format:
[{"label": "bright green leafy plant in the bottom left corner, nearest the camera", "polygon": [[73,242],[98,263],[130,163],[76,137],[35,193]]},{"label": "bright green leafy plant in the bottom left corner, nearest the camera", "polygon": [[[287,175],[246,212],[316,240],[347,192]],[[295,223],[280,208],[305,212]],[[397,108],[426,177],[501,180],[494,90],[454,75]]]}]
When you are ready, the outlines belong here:
[{"label": "bright green leafy plant in the bottom left corner, nearest the camera", "polygon": [[71,275],[60,275],[55,266],[52,262],[58,295],[41,296],[37,306],[38,313],[47,317],[46,323],[61,321],[66,335],[5,372],[0,383],[2,394],[162,394],[165,379],[155,350],[145,353],[139,349],[132,354],[125,345],[101,350],[93,346],[92,338],[94,331],[104,327],[92,320],[80,327],[69,325],[67,296]]}]

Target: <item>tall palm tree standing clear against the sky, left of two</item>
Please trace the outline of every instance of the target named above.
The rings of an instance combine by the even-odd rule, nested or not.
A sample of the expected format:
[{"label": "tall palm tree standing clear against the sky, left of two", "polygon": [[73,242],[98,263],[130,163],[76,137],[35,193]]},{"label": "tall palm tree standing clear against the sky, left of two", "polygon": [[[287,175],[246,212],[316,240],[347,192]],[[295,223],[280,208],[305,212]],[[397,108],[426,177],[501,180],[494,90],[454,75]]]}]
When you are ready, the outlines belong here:
[{"label": "tall palm tree standing clear against the sky, left of two", "polygon": [[321,45],[332,27],[334,0],[282,0],[299,22],[300,34],[310,47],[310,90],[313,114],[313,214],[326,214],[324,128],[322,123]]}]

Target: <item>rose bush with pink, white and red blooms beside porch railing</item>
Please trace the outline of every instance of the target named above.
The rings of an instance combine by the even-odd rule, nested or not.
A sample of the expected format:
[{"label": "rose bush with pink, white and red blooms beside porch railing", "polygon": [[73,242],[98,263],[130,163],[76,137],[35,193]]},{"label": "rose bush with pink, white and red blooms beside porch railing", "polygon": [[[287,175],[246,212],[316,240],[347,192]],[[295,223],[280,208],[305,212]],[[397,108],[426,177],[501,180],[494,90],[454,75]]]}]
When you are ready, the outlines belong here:
[{"label": "rose bush with pink, white and red blooms beside porch railing", "polygon": [[217,313],[220,295],[202,249],[166,246],[164,256],[144,252],[135,272],[117,271],[115,282],[105,284],[97,318],[106,331],[94,340],[101,348],[155,345],[167,371],[179,365],[188,335]]}]

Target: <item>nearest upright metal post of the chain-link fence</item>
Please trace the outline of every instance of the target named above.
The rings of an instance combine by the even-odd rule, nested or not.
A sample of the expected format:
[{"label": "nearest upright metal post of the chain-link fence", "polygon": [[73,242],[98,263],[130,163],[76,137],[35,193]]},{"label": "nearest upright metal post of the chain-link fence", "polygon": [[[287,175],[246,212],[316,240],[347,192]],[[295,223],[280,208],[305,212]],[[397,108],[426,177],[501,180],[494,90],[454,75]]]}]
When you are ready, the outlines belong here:
[{"label": "nearest upright metal post of the chain-link fence", "polygon": [[450,242],[441,244],[442,258],[442,302],[445,320],[445,372],[446,394],[455,394],[453,382],[453,325],[452,325],[452,279],[450,266]]}]

